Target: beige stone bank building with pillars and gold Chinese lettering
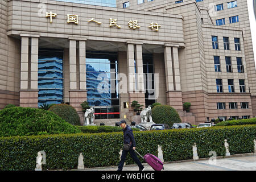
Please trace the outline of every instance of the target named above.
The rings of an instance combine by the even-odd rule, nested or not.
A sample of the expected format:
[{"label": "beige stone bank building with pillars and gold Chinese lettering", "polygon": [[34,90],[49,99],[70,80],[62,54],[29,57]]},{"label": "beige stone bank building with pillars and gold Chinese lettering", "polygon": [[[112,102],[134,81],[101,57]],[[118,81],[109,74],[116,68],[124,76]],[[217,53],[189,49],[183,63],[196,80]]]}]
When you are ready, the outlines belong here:
[{"label": "beige stone bank building with pillars and gold Chinese lettering", "polygon": [[[129,2],[129,3],[128,3]],[[68,103],[133,121],[136,100],[191,123],[256,115],[246,1],[1,1],[0,108]],[[191,113],[183,103],[191,102]]]}]

